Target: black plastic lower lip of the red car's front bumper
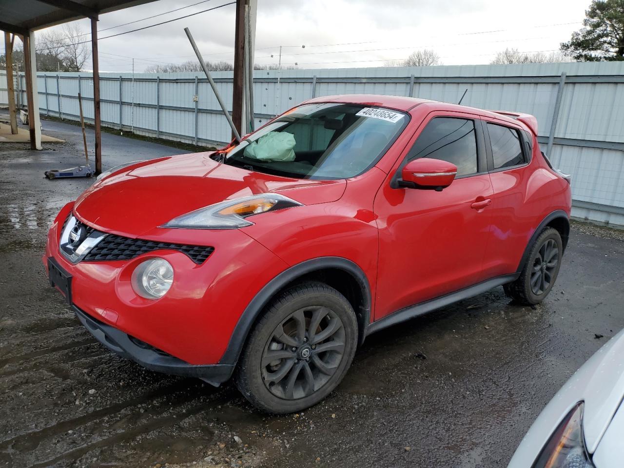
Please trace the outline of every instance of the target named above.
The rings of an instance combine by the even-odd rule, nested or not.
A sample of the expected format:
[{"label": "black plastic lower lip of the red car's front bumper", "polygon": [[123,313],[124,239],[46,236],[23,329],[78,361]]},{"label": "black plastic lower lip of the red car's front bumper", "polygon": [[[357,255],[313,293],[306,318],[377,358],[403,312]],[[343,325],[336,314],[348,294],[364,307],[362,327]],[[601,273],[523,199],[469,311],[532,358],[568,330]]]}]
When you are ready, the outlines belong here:
[{"label": "black plastic lower lip of the red car's front bumper", "polygon": [[98,319],[72,306],[77,318],[87,330],[115,354],[122,358],[132,359],[144,368],[152,371],[177,376],[196,377],[218,386],[227,381],[234,371],[232,364],[188,364],[182,359],[154,348],[150,344],[124,333],[123,331],[100,322]]}]

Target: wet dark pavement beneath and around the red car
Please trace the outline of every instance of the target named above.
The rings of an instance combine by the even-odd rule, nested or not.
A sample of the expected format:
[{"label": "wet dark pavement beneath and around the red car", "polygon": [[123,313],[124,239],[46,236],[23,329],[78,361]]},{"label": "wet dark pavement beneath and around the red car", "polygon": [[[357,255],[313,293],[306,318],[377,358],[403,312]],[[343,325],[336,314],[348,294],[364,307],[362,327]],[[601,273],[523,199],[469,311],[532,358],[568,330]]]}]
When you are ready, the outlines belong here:
[{"label": "wet dark pavement beneath and around the red car", "polygon": [[[624,235],[575,223],[542,305],[496,288],[381,331],[324,402],[266,416],[231,384],[117,358],[48,286],[47,227],[91,181],[42,177],[82,161],[78,127],[43,127],[67,143],[0,146],[0,467],[504,467],[557,389],[624,327]],[[104,167],[180,152],[109,134],[102,147]]]}]

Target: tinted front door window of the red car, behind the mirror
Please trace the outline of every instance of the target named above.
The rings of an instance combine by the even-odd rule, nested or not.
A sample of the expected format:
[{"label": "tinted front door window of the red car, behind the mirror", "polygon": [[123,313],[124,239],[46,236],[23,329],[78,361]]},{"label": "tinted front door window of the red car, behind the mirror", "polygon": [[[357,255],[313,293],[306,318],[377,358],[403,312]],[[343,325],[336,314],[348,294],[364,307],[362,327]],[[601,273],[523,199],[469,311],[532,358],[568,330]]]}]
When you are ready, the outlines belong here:
[{"label": "tinted front door window of the red car, behind the mirror", "polygon": [[477,173],[474,120],[435,117],[419,135],[409,159],[435,158],[457,166],[457,177]]}]

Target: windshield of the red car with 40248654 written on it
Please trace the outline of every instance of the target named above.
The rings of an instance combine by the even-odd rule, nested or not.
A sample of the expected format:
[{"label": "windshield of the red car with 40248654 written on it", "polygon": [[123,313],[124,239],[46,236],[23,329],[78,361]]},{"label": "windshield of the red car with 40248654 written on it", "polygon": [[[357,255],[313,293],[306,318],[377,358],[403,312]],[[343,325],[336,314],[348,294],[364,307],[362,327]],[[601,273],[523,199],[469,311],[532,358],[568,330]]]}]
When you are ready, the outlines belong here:
[{"label": "windshield of the red car with 40248654 written on it", "polygon": [[285,177],[355,177],[379,160],[407,120],[379,107],[305,104],[229,149],[225,163]]}]

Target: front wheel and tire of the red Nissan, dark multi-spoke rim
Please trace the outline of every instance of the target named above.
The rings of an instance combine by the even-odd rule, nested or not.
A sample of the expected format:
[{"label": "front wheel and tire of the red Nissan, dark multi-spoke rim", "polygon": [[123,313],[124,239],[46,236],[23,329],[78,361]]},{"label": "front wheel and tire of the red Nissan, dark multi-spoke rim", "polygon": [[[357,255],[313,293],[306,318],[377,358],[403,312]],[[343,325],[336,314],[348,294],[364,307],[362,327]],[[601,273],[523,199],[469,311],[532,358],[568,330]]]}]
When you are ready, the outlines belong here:
[{"label": "front wheel and tire of the red Nissan, dark multi-spoke rim", "polygon": [[349,301],[324,283],[281,292],[241,354],[236,386],[262,411],[286,414],[318,403],[343,379],[358,344]]}]

